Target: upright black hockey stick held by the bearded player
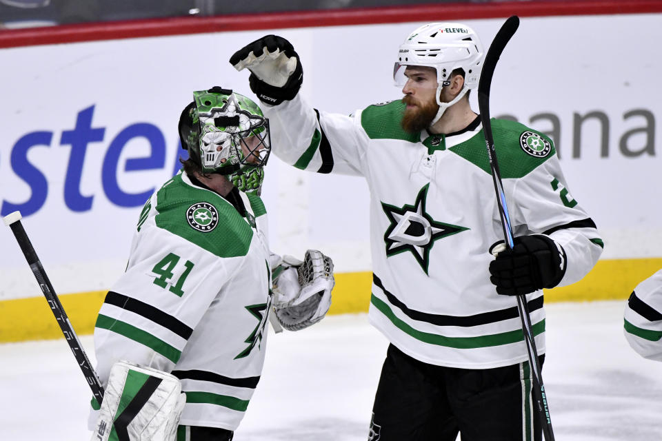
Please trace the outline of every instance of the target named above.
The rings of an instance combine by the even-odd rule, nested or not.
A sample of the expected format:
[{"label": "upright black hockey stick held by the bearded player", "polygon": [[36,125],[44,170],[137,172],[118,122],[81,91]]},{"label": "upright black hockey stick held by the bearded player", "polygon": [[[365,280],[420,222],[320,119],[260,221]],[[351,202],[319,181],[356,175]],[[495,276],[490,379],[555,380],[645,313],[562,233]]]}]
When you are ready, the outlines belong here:
[{"label": "upright black hockey stick held by the bearded player", "polygon": [[[488,148],[488,158],[490,159],[490,168],[492,169],[492,181],[494,181],[496,198],[499,200],[501,226],[503,227],[503,236],[508,249],[512,249],[514,243],[512,240],[512,227],[510,226],[508,205],[505,203],[505,194],[503,192],[503,185],[501,184],[501,173],[499,172],[499,164],[496,162],[492,125],[490,125],[490,85],[492,84],[492,76],[494,75],[494,68],[496,68],[496,61],[499,61],[501,52],[503,52],[505,45],[508,44],[508,41],[510,41],[515,34],[518,27],[519,18],[516,15],[513,15],[503,23],[499,32],[496,33],[496,37],[494,37],[494,40],[490,45],[488,54],[485,56],[483,72],[481,72],[481,79],[478,85],[478,105],[481,112],[483,133],[485,134],[485,145]],[[526,298],[523,295],[516,296],[516,298],[517,309],[522,320],[522,331],[524,333],[526,350],[528,352],[531,372],[533,374],[533,394],[537,404],[536,410],[538,411],[539,419],[543,427],[545,440],[554,441],[552,420],[550,419],[547,396],[545,395],[545,385],[543,384],[540,365],[538,363],[538,351],[536,350],[536,342],[531,329],[531,318],[526,305]]]}]

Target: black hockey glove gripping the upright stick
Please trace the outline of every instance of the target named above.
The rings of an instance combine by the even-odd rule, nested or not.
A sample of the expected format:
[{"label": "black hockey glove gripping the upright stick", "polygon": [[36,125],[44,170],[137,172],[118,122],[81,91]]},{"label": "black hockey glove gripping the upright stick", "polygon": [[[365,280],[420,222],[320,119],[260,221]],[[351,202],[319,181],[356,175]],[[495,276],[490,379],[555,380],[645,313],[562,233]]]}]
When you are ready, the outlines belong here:
[{"label": "black hockey glove gripping the upright stick", "polygon": [[512,250],[505,249],[503,240],[490,247],[496,254],[490,262],[490,282],[496,292],[504,296],[529,294],[542,288],[552,288],[561,282],[565,274],[565,251],[554,240],[541,234],[514,238]]}]

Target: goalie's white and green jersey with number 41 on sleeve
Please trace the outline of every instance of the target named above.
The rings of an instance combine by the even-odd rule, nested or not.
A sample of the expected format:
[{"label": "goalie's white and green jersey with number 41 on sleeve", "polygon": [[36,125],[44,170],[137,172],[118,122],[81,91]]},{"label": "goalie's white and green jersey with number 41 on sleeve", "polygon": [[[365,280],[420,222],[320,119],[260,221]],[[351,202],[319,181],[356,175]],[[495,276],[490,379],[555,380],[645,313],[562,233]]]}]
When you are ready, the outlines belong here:
[{"label": "goalie's white and green jersey with number 41 on sleeve", "polygon": [[270,307],[261,199],[235,207],[181,173],[146,203],[94,329],[97,372],[128,360],[182,382],[181,425],[234,430],[259,381]]}]

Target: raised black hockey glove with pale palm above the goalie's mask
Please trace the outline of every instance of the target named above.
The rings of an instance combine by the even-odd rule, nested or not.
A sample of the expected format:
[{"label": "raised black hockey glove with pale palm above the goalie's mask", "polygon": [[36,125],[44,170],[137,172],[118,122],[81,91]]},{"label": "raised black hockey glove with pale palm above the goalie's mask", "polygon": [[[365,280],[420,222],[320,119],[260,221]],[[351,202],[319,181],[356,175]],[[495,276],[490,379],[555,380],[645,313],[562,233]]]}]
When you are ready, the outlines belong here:
[{"label": "raised black hockey glove with pale palm above the goalie's mask", "polygon": [[297,96],[303,68],[292,44],[277,35],[266,35],[234,52],[230,64],[248,68],[250,90],[263,103],[278,105]]}]

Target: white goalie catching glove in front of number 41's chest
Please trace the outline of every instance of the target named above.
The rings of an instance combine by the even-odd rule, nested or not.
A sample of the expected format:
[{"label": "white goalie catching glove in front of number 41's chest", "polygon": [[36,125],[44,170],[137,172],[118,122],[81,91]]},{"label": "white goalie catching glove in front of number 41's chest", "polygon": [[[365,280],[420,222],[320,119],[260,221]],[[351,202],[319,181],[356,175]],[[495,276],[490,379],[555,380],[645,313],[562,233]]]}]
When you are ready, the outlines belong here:
[{"label": "white goalie catching glove in front of number 41's chest", "polygon": [[303,262],[284,256],[272,274],[274,312],[285,329],[299,331],[324,318],[335,284],[331,258],[309,249]]}]

